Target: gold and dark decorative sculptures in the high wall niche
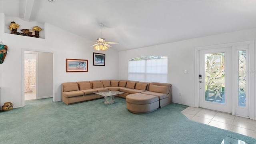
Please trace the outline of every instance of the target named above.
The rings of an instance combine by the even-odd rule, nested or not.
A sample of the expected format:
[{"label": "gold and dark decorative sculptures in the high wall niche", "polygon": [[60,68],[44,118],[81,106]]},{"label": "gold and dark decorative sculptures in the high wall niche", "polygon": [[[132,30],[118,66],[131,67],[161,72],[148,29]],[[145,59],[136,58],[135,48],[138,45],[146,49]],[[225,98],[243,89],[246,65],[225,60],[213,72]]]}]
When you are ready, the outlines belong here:
[{"label": "gold and dark decorative sculptures in the high wall niche", "polygon": [[15,22],[11,22],[11,24],[9,25],[9,29],[12,31],[11,34],[18,34],[21,36],[31,36],[31,37],[39,38],[39,32],[42,30],[42,28],[35,26],[32,30],[22,29],[20,30],[22,32],[17,32],[19,27],[20,25],[16,24]]}]

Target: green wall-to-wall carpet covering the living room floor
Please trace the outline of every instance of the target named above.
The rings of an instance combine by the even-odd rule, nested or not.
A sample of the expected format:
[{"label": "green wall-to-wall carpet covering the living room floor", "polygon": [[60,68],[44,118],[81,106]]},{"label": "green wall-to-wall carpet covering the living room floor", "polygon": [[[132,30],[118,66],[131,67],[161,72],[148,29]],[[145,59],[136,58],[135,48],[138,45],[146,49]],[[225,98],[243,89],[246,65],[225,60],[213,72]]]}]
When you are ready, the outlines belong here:
[{"label": "green wall-to-wall carpet covering the living room floor", "polygon": [[132,114],[123,98],[67,106],[52,98],[28,100],[25,107],[0,112],[1,144],[220,144],[231,136],[256,139],[188,120],[187,106],[169,104],[149,114]]}]

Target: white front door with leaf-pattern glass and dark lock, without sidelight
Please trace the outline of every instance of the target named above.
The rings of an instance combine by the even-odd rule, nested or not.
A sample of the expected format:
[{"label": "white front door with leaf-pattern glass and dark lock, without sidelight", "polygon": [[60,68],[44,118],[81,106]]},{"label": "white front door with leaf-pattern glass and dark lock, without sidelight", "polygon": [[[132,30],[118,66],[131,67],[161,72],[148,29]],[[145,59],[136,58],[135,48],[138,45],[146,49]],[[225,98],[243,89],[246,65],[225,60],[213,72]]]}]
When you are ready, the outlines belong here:
[{"label": "white front door with leaf-pattern glass and dark lock, without sidelight", "polygon": [[232,113],[231,50],[199,51],[199,107]]}]

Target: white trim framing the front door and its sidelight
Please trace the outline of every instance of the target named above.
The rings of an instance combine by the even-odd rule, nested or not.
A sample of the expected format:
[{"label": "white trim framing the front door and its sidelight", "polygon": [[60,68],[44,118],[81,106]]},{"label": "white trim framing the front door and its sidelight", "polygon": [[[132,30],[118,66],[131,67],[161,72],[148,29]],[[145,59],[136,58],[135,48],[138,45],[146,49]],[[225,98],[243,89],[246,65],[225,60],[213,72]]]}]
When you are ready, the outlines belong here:
[{"label": "white trim framing the front door and its sidelight", "polygon": [[[249,56],[250,56],[250,62],[255,62],[255,51],[254,51],[254,40],[249,40],[249,41],[244,41],[244,42],[234,42],[234,43],[228,43],[228,44],[218,44],[218,45],[212,45],[212,46],[200,46],[195,48],[195,91],[194,91],[194,96],[195,96],[195,107],[199,107],[199,50],[206,50],[206,49],[212,49],[212,48],[223,48],[223,47],[232,47],[233,51],[233,46],[240,46],[240,45],[249,45]],[[255,72],[255,65],[250,65],[250,71]],[[250,107],[249,107],[249,117],[250,119],[256,119],[255,117],[255,104],[256,104],[256,99],[255,99],[255,74],[250,75]],[[232,75],[233,76],[233,75]],[[235,102],[232,98],[232,106],[234,105]],[[232,107],[232,114],[235,114],[235,108]]]}]

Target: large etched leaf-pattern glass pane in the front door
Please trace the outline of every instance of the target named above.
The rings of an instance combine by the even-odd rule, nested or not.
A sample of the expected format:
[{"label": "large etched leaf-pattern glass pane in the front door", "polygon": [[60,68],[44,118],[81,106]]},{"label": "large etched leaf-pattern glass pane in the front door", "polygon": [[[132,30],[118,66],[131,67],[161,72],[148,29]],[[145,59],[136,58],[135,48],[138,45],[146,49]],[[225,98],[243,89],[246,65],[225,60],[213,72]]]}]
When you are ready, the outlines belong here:
[{"label": "large etched leaf-pattern glass pane in the front door", "polygon": [[225,103],[225,53],[205,55],[205,100]]}]

